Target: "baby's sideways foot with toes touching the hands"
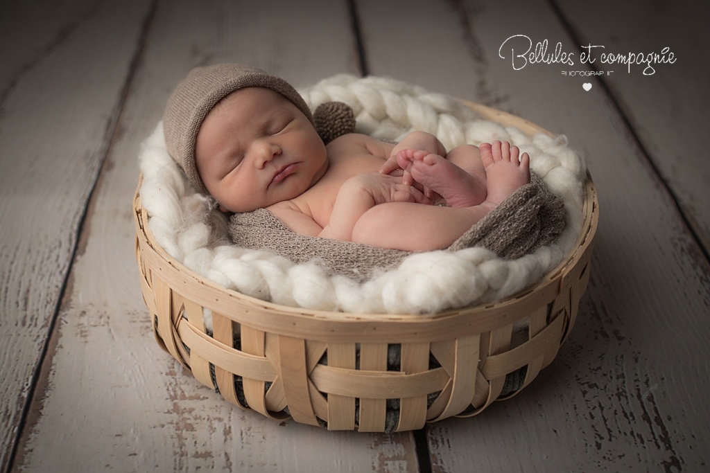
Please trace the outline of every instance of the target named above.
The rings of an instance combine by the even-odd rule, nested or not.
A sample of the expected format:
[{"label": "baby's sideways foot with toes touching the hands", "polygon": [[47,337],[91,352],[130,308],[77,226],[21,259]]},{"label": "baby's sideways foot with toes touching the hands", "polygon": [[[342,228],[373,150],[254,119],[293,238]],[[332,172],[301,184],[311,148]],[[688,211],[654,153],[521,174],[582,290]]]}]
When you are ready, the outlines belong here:
[{"label": "baby's sideways foot with toes touching the hands", "polygon": [[397,153],[397,162],[425,189],[442,196],[449,207],[470,207],[486,200],[486,179],[469,174],[442,156],[402,150]]}]

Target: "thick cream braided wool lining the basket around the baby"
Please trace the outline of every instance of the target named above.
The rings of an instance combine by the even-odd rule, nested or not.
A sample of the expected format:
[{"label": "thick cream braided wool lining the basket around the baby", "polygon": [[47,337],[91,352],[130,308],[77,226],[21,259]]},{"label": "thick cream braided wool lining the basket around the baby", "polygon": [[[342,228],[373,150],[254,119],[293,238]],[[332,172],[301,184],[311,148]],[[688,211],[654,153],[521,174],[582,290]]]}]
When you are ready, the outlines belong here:
[{"label": "thick cream braided wool lining the basket around the baby", "polygon": [[564,136],[530,137],[479,118],[450,96],[382,77],[339,74],[299,92],[312,110],[327,101],[348,104],[356,131],[383,140],[424,130],[447,149],[496,139],[518,145],[547,188],[564,199],[567,227],[554,244],[516,260],[474,247],[415,253],[366,282],[331,277],[317,261],[296,265],[273,253],[231,245],[226,218],[192,189],[168,155],[161,122],[141,148],[140,192],[155,240],[171,257],[227,289],[275,304],[351,313],[437,313],[513,295],[539,281],[574,247],[586,166]]}]

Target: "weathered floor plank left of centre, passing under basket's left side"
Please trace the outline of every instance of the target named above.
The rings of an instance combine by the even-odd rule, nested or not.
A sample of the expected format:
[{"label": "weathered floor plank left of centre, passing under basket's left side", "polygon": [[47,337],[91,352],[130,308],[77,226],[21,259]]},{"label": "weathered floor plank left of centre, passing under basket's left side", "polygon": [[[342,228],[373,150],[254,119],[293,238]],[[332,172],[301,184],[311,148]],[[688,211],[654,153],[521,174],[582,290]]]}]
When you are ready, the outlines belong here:
[{"label": "weathered floor plank left of centre, passing under basket's left side", "polygon": [[[31,471],[412,471],[410,433],[332,433],[241,411],[153,340],[134,257],[141,141],[196,65],[243,61],[295,85],[356,73],[346,11],[327,0],[158,4],[89,208],[85,246],[16,465]],[[284,11],[288,16],[274,16]],[[322,25],[316,13],[333,22]],[[276,34],[278,32],[278,34]]]}]

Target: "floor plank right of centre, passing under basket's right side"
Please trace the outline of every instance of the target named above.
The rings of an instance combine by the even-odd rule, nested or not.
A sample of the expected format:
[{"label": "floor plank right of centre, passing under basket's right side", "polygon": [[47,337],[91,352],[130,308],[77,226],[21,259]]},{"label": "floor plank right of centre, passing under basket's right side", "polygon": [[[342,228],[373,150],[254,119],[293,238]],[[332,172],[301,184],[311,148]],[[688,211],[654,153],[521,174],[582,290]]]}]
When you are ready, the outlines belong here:
[{"label": "floor plank right of centre, passing under basket's right side", "polygon": [[[709,415],[708,265],[634,140],[628,126],[636,122],[619,113],[598,79],[564,77],[560,65],[515,71],[498,57],[517,34],[571,48],[557,13],[542,1],[410,1],[408,28],[395,30],[384,27],[379,2],[358,7],[372,74],[481,101],[567,134],[586,157],[601,199],[591,283],[567,345],[515,399],[478,418],[431,425],[432,469],[698,471],[706,463],[701,439],[709,434],[701,421]],[[393,14],[405,4],[388,2],[387,9]],[[592,32],[616,13],[610,7],[596,13],[599,21],[578,21]],[[619,37],[633,33],[616,30]],[[581,88],[588,81],[589,92]],[[646,110],[656,104],[645,101]],[[665,126],[674,133],[689,123],[697,129],[692,118]],[[686,144],[675,143],[679,153],[692,152]]]}]

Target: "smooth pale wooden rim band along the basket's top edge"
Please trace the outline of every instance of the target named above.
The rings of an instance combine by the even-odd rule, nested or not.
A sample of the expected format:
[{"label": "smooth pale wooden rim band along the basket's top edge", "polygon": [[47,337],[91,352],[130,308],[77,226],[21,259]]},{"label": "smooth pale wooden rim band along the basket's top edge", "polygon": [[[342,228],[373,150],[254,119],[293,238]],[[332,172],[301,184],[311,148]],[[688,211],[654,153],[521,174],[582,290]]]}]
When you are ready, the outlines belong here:
[{"label": "smooth pale wooden rim band along the basket's top edge", "polygon": [[[554,136],[544,128],[510,113],[471,101],[461,100],[461,103],[492,121],[503,125],[518,126],[524,133],[546,133]],[[539,307],[569,286],[567,276],[573,272],[581,260],[589,259],[594,235],[596,235],[599,225],[599,196],[596,193],[591,175],[587,172],[584,183],[586,192],[582,208],[583,223],[577,242],[562,262],[550,269],[539,282],[523,289],[518,294],[491,303],[472,304],[439,313],[394,314],[320,311],[275,304],[241,294],[234,289],[227,289],[193,272],[168,255],[168,252],[155,241],[153,233],[148,228],[148,212],[143,208],[140,195],[142,182],[143,175],[141,174],[136,192],[133,194],[136,257],[138,257],[139,265],[141,257],[149,260],[156,265],[165,282],[168,282],[179,293],[237,323],[249,323],[254,328],[262,328],[272,333],[281,333],[282,330],[279,330],[278,327],[287,325],[283,329],[283,335],[295,336],[296,333],[302,333],[304,338],[310,339],[349,340],[354,332],[359,332],[361,335],[367,334],[368,340],[390,340],[393,335],[404,335],[403,332],[406,332],[408,340],[412,337],[422,340],[444,340],[449,335],[460,335],[461,330],[469,332],[473,326],[476,330],[489,330],[501,324],[515,323],[515,321],[528,316],[529,311],[521,309],[530,306]],[[586,266],[586,261],[583,263]],[[235,307],[239,307],[241,311],[235,311]],[[332,323],[324,325],[324,322]],[[398,328],[389,327],[393,322],[397,323]],[[406,328],[403,325],[406,325]],[[349,335],[339,336],[338,333],[341,330]],[[436,332],[432,330],[436,330]],[[435,333],[438,336],[432,338]]]}]

